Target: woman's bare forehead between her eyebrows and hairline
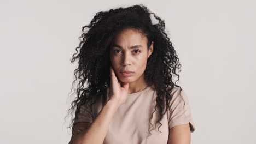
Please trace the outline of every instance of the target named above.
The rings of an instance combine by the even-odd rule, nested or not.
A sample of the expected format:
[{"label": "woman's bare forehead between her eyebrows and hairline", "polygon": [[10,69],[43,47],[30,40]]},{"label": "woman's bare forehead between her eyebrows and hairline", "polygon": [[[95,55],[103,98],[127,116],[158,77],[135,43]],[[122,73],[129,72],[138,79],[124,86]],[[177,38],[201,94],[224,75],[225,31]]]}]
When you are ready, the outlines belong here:
[{"label": "woman's bare forehead between her eyebrows and hairline", "polygon": [[147,45],[147,37],[136,29],[124,29],[119,32],[113,39],[112,45]]}]

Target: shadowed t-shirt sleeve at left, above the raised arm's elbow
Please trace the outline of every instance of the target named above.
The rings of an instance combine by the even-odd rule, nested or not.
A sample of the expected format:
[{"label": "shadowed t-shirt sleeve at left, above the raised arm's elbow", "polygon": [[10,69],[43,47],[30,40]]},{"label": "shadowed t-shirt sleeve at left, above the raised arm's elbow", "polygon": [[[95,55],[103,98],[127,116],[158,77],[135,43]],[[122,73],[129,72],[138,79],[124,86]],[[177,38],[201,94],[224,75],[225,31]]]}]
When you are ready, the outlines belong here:
[{"label": "shadowed t-shirt sleeve at left, above the raised arm's elbow", "polygon": [[91,105],[88,104],[83,104],[80,107],[80,112],[75,116],[74,119],[74,124],[78,122],[89,122],[91,123],[93,121],[93,116],[92,116],[92,107]]}]

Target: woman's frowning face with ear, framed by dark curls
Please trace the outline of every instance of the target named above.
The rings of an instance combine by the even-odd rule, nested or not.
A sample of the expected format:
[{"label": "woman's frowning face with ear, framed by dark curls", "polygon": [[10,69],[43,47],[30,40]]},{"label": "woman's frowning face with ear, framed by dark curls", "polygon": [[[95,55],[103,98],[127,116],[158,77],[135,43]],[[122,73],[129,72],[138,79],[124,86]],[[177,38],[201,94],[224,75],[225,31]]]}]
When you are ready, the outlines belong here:
[{"label": "woman's frowning face with ear, framed by dark curls", "polygon": [[[147,59],[153,52],[153,42],[147,49],[147,37],[134,29],[124,29],[110,45],[110,61],[115,75],[122,82],[131,83],[144,80]],[[124,70],[132,73],[123,73]]]}]

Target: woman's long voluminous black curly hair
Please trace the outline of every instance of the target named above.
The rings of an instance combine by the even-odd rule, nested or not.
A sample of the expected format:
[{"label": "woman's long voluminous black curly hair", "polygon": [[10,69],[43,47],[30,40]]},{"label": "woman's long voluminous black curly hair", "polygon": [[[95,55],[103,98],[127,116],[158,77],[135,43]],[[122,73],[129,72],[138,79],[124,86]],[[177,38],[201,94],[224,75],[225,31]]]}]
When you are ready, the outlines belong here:
[{"label": "woman's long voluminous black curly hair", "polygon": [[[152,23],[151,14],[158,21],[157,23]],[[80,106],[92,101],[92,99],[94,99],[92,104],[100,98],[103,99],[103,104],[106,104],[107,88],[110,87],[109,47],[115,35],[125,28],[137,29],[146,36],[148,49],[151,42],[154,41],[154,51],[148,58],[144,79],[155,87],[157,97],[154,112],[156,109],[159,111],[159,119],[155,125],[160,123],[159,127],[161,127],[160,121],[165,115],[166,109],[170,109],[172,89],[176,86],[179,87],[179,91],[182,91],[182,88],[176,85],[179,80],[176,71],[181,71],[181,64],[170,39],[165,33],[164,20],[151,13],[143,4],[100,11],[96,13],[89,25],[83,27],[83,33],[79,37],[79,46],[76,47],[76,53],[72,55],[71,59],[71,63],[78,60],[78,68],[74,70],[75,80],[73,81],[74,83],[79,79],[75,91],[77,97],[72,101],[71,109],[68,111],[72,110],[74,112],[76,107],[76,118]],[[173,82],[173,74],[178,76],[175,83]],[[86,88],[84,88],[85,82],[88,86]],[[73,121],[74,118],[72,118],[70,125],[72,131],[74,128]]]}]

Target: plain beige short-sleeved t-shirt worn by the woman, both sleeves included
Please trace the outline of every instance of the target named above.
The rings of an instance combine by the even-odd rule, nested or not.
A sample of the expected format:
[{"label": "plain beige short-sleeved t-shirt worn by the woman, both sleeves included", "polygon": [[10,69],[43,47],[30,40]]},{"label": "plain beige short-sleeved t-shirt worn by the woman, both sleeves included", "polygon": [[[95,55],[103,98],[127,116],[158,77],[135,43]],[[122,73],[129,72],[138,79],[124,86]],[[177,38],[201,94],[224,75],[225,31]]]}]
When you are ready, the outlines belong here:
[{"label": "plain beige short-sleeved t-shirt worn by the woman, both sleeves included", "polygon": [[[114,114],[103,143],[167,143],[169,129],[176,125],[186,123],[189,123],[190,131],[193,133],[195,124],[191,115],[187,94],[184,92],[184,89],[180,93],[177,87],[172,89],[171,93],[173,95],[170,104],[172,111],[167,110],[160,121],[162,125],[159,131],[161,131],[161,133],[158,131],[159,123],[155,128],[155,122],[158,120],[158,118],[156,118],[156,111],[151,120],[153,127],[149,123],[149,119],[156,104],[156,91],[154,87],[150,86],[142,91],[128,94],[126,102],[121,105]],[[77,116],[78,119],[74,121],[74,124],[78,122],[94,121],[101,109],[101,101],[96,102],[92,107],[82,105],[80,113]],[[148,131],[150,126],[149,131],[152,135],[150,135]]]}]

